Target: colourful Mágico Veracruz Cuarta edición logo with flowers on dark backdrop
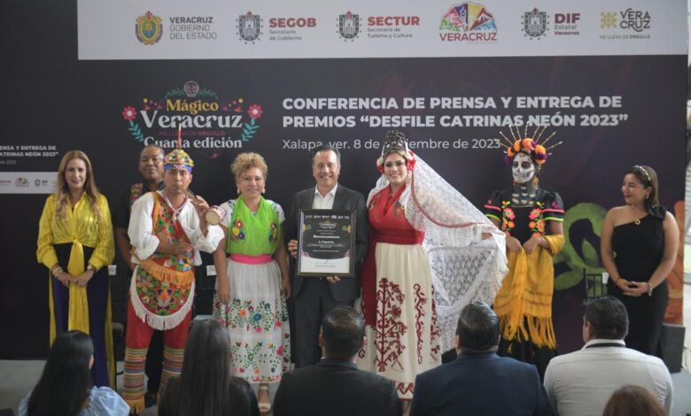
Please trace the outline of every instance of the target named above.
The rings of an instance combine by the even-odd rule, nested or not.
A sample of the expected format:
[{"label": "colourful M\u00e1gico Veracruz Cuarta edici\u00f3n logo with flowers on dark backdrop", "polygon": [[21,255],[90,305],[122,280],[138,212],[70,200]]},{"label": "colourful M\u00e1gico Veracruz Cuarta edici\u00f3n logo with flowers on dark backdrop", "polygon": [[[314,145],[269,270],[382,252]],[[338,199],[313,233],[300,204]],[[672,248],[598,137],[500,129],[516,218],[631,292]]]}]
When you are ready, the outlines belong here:
[{"label": "colourful M\u00e1gico Veracruz Cuarta edici\u00f3n logo with flowers on dark backdrop", "polygon": [[144,146],[175,148],[177,127],[182,125],[182,147],[214,150],[212,158],[222,149],[242,149],[250,142],[259,131],[262,114],[259,104],[247,105],[242,97],[221,99],[196,81],[169,89],[162,98],[144,96],[138,108],[122,109],[129,135]]}]

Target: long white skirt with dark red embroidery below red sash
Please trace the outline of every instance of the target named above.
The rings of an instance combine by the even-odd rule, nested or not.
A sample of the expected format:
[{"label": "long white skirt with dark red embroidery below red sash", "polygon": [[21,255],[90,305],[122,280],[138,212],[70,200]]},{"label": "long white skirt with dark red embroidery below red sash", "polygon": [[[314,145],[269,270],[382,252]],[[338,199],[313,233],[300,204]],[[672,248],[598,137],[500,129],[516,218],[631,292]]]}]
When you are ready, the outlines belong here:
[{"label": "long white skirt with dark red embroidery below red sash", "polygon": [[376,259],[377,324],[365,328],[367,343],[356,362],[411,399],[415,376],[441,362],[430,262],[417,244],[377,243]]}]

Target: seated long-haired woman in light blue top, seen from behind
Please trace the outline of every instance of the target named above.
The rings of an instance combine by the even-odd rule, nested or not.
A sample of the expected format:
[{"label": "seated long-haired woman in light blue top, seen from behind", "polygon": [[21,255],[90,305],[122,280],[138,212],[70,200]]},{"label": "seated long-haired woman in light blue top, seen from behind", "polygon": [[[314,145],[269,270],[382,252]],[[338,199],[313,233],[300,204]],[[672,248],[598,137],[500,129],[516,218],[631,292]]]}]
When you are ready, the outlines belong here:
[{"label": "seated long-haired woman in light blue top, seen from behind", "polygon": [[129,406],[108,387],[95,387],[91,377],[94,343],[80,331],[58,334],[34,390],[19,403],[19,416],[119,416]]}]

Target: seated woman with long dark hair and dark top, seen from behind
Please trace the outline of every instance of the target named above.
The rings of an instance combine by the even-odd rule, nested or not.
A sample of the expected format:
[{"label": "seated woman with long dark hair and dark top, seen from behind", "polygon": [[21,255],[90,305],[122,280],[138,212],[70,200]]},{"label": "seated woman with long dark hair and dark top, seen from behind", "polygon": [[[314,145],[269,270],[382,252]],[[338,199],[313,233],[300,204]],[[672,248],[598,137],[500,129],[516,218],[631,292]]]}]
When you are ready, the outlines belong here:
[{"label": "seated woman with long dark hair and dark top, seen from behind", "polygon": [[229,351],[228,331],[218,321],[195,322],[185,344],[182,373],[168,382],[159,416],[258,416],[249,383],[232,375]]}]

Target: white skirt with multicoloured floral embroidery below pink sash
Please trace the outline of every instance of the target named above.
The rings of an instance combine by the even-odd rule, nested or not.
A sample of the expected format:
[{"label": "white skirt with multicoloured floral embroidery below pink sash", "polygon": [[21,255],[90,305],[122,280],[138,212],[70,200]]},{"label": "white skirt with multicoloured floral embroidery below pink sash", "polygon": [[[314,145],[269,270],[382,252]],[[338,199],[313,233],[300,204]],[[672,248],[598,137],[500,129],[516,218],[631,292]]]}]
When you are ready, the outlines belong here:
[{"label": "white skirt with multicoloured floral embroidery below pink sash", "polygon": [[247,265],[227,260],[230,298],[214,295],[214,319],[228,328],[233,373],[249,382],[281,381],[290,365],[288,308],[276,260]]}]

